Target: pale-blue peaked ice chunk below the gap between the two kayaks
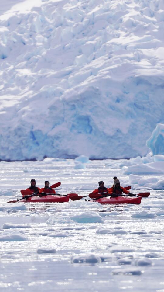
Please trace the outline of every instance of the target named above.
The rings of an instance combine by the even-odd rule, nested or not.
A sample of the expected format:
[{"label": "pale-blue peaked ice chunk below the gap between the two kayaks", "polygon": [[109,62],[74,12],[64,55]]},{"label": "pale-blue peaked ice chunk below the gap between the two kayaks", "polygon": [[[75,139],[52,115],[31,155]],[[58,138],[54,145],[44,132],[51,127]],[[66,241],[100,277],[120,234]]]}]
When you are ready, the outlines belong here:
[{"label": "pale-blue peaked ice chunk below the gap between the two kayaks", "polygon": [[79,215],[70,216],[70,219],[77,223],[101,223],[104,222],[102,217],[95,212],[84,212]]}]

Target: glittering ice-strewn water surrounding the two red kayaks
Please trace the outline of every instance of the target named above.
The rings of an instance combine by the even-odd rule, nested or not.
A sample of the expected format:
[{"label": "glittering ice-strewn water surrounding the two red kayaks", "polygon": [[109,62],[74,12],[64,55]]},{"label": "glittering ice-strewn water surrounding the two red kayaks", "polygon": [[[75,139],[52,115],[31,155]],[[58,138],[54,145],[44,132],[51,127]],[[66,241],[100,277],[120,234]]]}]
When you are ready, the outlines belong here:
[{"label": "glittering ice-strewn water surrounding the two red kayaks", "polygon": [[[128,179],[121,169],[107,168],[106,162],[92,161],[79,170],[73,169],[73,160],[0,162],[1,194],[7,189],[16,191],[0,196],[0,237],[4,231],[15,231],[27,239],[13,236],[11,241],[0,241],[3,291],[164,291],[163,191],[152,191],[140,205],[100,205],[82,199],[26,203],[25,210],[18,210],[22,203],[7,204],[21,198],[20,189],[26,189],[31,178],[39,187],[47,179],[50,185],[60,181],[58,193],[84,196],[99,180],[107,182],[115,175]],[[152,199],[159,205],[145,208]],[[136,215],[141,211],[147,217]],[[91,223],[71,219],[83,213],[83,222],[87,213],[93,215]],[[102,222],[93,222],[97,215]],[[2,228],[4,224],[9,228]],[[13,228],[13,224],[24,228]]]}]

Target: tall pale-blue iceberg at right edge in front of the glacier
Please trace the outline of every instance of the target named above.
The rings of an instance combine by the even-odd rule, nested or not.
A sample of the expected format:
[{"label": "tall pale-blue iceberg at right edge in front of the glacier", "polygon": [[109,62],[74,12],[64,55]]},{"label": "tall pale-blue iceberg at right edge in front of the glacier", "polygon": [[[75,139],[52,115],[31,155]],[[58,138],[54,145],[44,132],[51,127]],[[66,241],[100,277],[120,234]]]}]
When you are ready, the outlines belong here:
[{"label": "tall pale-blue iceberg at right edge in front of the glacier", "polygon": [[153,155],[164,155],[164,124],[157,124],[146,144],[151,149]]}]

